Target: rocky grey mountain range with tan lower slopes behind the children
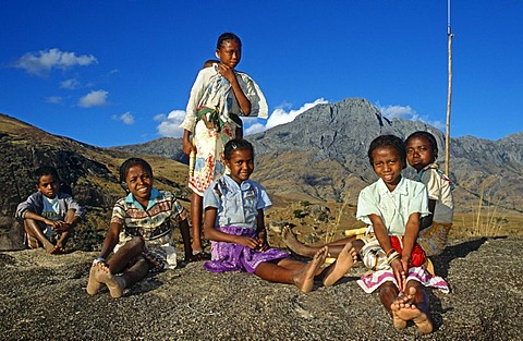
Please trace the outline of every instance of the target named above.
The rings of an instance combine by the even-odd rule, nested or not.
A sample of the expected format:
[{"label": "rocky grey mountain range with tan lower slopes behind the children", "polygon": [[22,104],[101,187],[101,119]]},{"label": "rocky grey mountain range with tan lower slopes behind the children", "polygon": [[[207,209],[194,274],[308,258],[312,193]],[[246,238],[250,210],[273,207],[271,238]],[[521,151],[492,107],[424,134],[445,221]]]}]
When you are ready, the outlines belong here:
[{"label": "rocky grey mountain range with tan lower slopes behind the children", "polygon": [[[443,133],[421,121],[388,120],[363,98],[318,105],[293,122],[247,136],[255,145],[253,175],[273,194],[288,198],[349,202],[375,181],[367,148],[376,136],[405,138],[414,131],[433,133],[445,167]],[[181,139],[160,138],[120,149],[182,160]],[[499,141],[473,136],[451,138],[450,178],[457,183],[459,209],[471,210],[478,198],[523,214],[523,133]],[[405,170],[413,176],[412,169]]]}]

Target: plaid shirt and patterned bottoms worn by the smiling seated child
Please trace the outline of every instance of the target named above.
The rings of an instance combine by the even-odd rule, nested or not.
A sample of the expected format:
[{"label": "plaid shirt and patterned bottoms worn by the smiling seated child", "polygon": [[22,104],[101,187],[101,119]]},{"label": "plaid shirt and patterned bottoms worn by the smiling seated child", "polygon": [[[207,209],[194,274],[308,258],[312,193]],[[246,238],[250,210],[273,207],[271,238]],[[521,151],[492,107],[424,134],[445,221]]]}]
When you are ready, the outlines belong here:
[{"label": "plaid shirt and patterned bottoms worn by the smiling seated child", "polygon": [[187,211],[170,192],[153,188],[145,210],[130,193],[119,199],[112,209],[111,223],[115,222],[123,227],[119,244],[113,252],[133,236],[141,236],[145,241],[143,256],[154,265],[151,271],[172,268],[172,259],[175,266],[172,232],[178,223],[186,218]]}]

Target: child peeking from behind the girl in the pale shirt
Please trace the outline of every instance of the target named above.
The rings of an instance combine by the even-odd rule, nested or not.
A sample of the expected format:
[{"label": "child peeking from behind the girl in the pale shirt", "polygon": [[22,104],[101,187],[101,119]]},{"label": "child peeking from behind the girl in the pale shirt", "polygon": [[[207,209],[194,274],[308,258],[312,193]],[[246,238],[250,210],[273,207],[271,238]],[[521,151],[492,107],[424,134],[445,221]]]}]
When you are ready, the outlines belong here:
[{"label": "child peeking from behind the girl in the pale shirt", "polygon": [[417,243],[427,256],[439,255],[447,244],[452,227],[454,203],[453,183],[436,165],[438,144],[429,132],[412,133],[405,141],[406,160],[416,171],[421,182],[428,190],[430,215],[422,219]]}]

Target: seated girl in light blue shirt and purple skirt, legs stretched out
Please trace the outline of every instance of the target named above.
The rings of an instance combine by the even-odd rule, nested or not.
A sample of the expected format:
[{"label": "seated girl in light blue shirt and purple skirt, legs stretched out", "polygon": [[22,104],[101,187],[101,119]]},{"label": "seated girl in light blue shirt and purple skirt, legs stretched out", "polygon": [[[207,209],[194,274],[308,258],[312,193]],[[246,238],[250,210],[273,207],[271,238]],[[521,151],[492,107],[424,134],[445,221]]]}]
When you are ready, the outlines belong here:
[{"label": "seated girl in light blue shirt and purple skirt, legs stretched out", "polygon": [[349,243],[336,263],[321,268],[328,247],[319,249],[309,264],[289,258],[287,253],[270,248],[264,221],[264,209],[271,202],[265,188],[248,178],[254,170],[254,149],[244,139],[226,144],[224,160],[230,173],[215,180],[204,194],[205,236],[211,240],[211,260],[204,264],[210,271],[247,271],[278,283],[313,290],[315,277],[332,285],[353,266],[356,253]]}]

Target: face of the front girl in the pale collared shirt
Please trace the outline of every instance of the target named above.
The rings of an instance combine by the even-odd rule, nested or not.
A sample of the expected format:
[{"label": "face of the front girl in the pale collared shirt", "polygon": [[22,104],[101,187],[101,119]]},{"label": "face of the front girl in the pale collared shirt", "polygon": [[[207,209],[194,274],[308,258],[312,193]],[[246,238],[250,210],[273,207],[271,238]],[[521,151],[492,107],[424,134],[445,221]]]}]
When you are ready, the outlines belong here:
[{"label": "face of the front girl in the pale collared shirt", "polygon": [[392,147],[380,147],[373,150],[373,168],[385,181],[389,191],[393,191],[401,180],[403,165],[398,150]]}]

